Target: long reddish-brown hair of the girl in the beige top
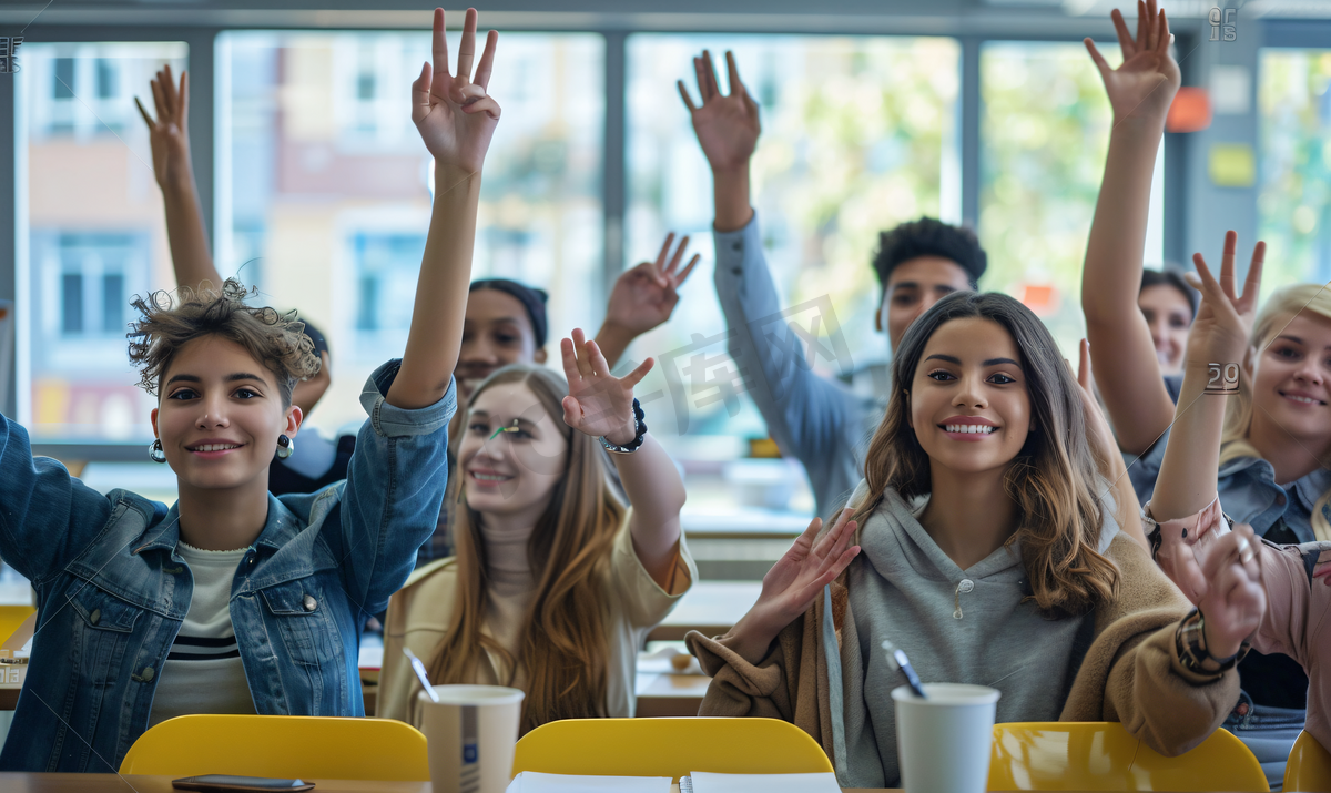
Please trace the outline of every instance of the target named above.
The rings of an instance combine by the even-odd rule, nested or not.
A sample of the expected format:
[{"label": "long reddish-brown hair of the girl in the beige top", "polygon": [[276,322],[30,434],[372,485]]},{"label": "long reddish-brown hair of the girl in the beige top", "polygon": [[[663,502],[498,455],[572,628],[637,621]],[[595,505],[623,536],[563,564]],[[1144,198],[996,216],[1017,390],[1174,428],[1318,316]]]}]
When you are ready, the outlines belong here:
[{"label": "long reddish-brown hair of the girl in the beige top", "polygon": [[471,398],[500,383],[531,389],[568,442],[564,475],[527,543],[536,595],[524,617],[515,663],[507,649],[480,632],[488,591],[483,518],[466,504],[466,490],[459,487],[457,607],[429,671],[435,684],[471,683],[486,649],[503,657],[510,669],[520,664],[527,676],[526,733],[556,718],[606,716],[610,649],[602,581],[624,507],[611,495],[596,439],[563,422],[564,383],[544,367],[512,365],[486,378]]}]

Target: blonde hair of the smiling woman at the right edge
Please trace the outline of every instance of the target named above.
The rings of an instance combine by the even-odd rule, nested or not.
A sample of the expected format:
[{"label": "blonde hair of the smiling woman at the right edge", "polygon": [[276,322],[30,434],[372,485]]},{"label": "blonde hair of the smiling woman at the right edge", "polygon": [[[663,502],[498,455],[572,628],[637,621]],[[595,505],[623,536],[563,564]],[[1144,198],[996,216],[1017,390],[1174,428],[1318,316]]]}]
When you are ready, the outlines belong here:
[{"label": "blonde hair of the smiling woman at the right edge", "polygon": [[[1296,283],[1276,290],[1252,322],[1252,335],[1248,337],[1247,359],[1239,378],[1239,393],[1225,408],[1225,432],[1221,435],[1221,464],[1236,458],[1260,458],[1262,452],[1252,446],[1248,434],[1252,430],[1252,374],[1258,358],[1271,345],[1276,335],[1302,311],[1331,319],[1331,290],[1318,283]],[[1331,490],[1322,494],[1312,506],[1312,532],[1319,540],[1331,540],[1331,523],[1322,508],[1331,502]]]}]

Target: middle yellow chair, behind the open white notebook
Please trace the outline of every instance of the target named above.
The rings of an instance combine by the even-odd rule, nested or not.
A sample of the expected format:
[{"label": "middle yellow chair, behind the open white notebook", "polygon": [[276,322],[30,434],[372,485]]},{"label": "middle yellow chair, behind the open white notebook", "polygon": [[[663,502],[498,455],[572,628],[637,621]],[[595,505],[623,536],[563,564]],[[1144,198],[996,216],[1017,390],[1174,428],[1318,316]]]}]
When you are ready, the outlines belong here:
[{"label": "middle yellow chair, behind the open white notebook", "polygon": [[679,777],[817,773],[832,762],[809,733],[777,718],[567,718],[518,741],[512,773]]}]

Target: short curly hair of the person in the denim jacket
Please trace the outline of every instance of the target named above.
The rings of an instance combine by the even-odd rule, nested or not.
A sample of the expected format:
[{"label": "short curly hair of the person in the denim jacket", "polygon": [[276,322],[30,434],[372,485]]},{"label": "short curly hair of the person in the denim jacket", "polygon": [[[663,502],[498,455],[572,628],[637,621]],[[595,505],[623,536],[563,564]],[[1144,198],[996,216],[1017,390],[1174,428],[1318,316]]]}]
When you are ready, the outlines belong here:
[{"label": "short curly hair of the person in the denim jacket", "polygon": [[181,347],[216,335],[245,347],[266,366],[277,378],[282,406],[289,407],[295,383],[317,375],[321,361],[295,311],[282,314],[269,306],[245,305],[245,298],[257,294],[258,289],[246,290],[240,281],[228,278],[220,287],[205,281],[197,290],[181,286],[174,294],[158,290],[134,295],[130,305],[140,317],[130,323],[128,338],[138,385],[156,397]]}]

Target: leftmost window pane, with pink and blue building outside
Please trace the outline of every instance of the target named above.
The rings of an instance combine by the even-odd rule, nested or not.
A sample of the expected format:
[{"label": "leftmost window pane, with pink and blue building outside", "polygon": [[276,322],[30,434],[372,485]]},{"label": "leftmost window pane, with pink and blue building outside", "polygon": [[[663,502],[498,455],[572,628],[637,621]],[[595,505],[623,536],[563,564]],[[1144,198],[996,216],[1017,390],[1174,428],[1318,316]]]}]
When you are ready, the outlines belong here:
[{"label": "leftmost window pane, with pink and blue building outside", "polygon": [[[161,193],[133,97],[184,43],[23,45],[16,124],[27,156],[27,257],[20,261],[20,419],[35,439],[152,438],[136,383],[128,301],[172,285]],[[23,363],[27,362],[27,366]]]}]

